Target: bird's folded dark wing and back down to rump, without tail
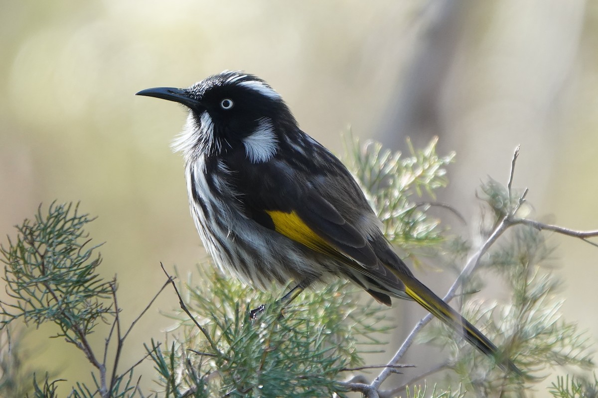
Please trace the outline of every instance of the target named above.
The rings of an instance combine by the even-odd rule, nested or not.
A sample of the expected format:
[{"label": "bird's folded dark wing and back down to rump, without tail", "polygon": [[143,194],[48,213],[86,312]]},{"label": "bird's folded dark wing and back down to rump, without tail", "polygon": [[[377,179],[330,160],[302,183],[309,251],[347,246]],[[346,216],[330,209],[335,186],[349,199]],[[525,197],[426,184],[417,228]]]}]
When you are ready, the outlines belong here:
[{"label": "bird's folded dark wing and back down to rump, without tail", "polygon": [[310,156],[295,153],[291,159],[251,165],[229,159],[229,182],[242,211],[261,226],[335,258],[346,266],[339,270],[347,278],[382,303],[390,305],[388,294],[407,298],[403,283],[385,264],[396,260],[410,271],[384,239],[358,184],[327,149],[315,148]]}]

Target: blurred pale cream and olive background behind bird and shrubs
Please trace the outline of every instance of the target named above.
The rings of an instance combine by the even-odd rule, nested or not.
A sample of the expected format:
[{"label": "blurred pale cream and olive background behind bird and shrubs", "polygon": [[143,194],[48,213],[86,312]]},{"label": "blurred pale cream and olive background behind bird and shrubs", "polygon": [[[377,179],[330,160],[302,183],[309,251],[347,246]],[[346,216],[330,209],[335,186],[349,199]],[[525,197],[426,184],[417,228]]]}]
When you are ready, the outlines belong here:
[{"label": "blurred pale cream and olive background behind bird and shrubs", "polygon": [[[133,94],[224,69],[266,79],[304,131],[339,155],[349,126],[393,149],[407,136],[416,147],[440,136],[439,152],[457,153],[442,200],[471,232],[480,181],[506,183],[518,144],[514,185],[530,189],[534,216],[598,229],[597,29],[598,2],[582,0],[2,1],[0,233],[14,236],[39,203],[80,200],[98,216],[89,230],[107,242],[102,273],[117,274],[123,320],[133,320],[165,280],[160,261],[186,273],[205,258],[182,159],[169,149],[185,112]],[[596,338],[598,249],[550,242],[567,319]],[[453,276],[422,277],[442,292]],[[176,305],[172,292],[161,295],[123,367],[144,354],[142,341],[163,340],[172,321],[158,308]],[[423,314],[395,308],[405,329]],[[89,380],[80,353],[48,332],[28,334],[38,365],[68,385]],[[372,363],[385,363],[399,340]]]}]

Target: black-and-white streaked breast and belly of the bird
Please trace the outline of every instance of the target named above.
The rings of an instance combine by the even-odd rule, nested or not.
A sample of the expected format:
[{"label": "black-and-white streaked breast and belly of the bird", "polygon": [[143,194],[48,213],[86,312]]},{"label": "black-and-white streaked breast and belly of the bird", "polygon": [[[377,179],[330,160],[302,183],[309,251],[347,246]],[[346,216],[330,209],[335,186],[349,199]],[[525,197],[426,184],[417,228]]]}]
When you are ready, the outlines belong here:
[{"label": "black-and-white streaked breast and belly of the bird", "polygon": [[[228,184],[215,184],[218,195],[213,195],[205,162],[206,156],[201,154],[187,163],[187,190],[191,214],[203,246],[220,270],[236,273],[243,282],[266,289],[271,280],[285,283],[289,273],[316,279],[327,270],[335,269],[335,260],[322,258],[312,264],[313,260],[306,256],[303,246],[274,231],[256,230],[255,221],[239,212],[239,203],[219,199],[236,195]],[[227,172],[228,167],[218,162],[218,169]],[[256,255],[246,255],[245,246]],[[279,252],[285,253],[287,261],[263,260],[275,258]]]}]

